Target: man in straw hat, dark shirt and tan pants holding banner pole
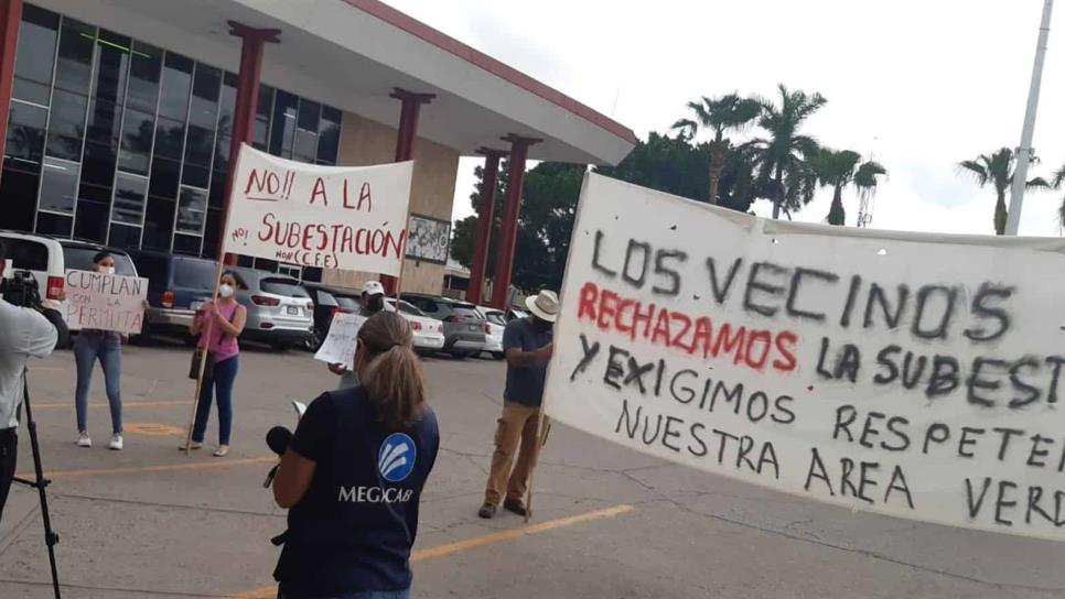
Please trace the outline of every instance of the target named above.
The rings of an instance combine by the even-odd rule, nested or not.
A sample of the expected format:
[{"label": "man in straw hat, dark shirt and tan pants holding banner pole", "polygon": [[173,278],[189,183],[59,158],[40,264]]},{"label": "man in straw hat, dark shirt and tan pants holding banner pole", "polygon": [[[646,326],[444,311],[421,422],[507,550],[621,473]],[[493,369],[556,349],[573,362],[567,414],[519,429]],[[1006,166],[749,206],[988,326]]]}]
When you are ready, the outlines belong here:
[{"label": "man in straw hat, dark shirt and tan pants holding banner pole", "polygon": [[484,504],[477,511],[481,518],[494,516],[501,501],[505,510],[526,515],[525,493],[541,439],[547,433],[547,421],[539,435],[537,428],[547,362],[555,347],[551,328],[558,317],[558,295],[541,291],[527,298],[525,305],[532,315],[510,320],[503,333],[507,382],[503,392],[503,416],[495,433],[492,471],[484,491]]}]

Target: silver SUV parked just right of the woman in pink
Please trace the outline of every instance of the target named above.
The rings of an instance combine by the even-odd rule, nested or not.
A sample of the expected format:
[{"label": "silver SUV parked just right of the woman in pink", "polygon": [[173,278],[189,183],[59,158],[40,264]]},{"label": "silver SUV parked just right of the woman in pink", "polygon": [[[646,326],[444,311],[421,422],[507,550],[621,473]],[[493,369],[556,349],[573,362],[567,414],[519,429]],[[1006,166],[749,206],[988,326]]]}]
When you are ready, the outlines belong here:
[{"label": "silver SUV parked just right of the woman in pink", "polygon": [[314,339],[314,302],[291,276],[251,269],[230,269],[244,281],[237,301],[248,308],[241,339],[269,344],[278,350]]}]

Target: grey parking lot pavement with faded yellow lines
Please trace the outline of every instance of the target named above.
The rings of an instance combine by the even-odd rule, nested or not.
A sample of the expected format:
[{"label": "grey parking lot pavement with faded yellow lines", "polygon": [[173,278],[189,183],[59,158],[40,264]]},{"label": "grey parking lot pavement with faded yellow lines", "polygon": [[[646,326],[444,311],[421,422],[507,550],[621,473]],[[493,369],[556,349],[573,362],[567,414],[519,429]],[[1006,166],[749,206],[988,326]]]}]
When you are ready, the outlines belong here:
[{"label": "grey parking lot pavement with faded yellow lines", "polygon": [[[109,451],[97,371],[92,449],[74,445],[74,360],[35,362],[31,393],[64,597],[272,597],[284,526],[262,479],[262,437],[289,400],[336,378],[310,355],[246,348],[233,450],[176,450],[191,411],[181,346],[128,347],[126,449]],[[426,492],[415,596],[1065,597],[1065,546],[946,529],[765,491],[555,426],[536,472],[536,518],[476,518],[503,364],[427,359],[441,453]],[[215,440],[212,416],[208,443]],[[30,472],[21,439],[20,471]],[[36,494],[12,490],[0,522],[0,597],[51,597]]]}]

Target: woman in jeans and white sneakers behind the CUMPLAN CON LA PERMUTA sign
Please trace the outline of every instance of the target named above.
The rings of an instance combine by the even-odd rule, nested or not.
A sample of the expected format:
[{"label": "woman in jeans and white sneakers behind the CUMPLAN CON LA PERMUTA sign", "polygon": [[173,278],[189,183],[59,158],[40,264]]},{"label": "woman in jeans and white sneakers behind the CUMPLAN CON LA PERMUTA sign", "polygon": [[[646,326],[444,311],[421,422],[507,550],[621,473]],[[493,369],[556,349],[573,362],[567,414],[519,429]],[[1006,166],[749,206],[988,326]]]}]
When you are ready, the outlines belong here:
[{"label": "woman in jeans and white sneakers behind the CUMPLAN CON LA PERMUTA sign", "polygon": [[[93,269],[100,274],[115,274],[115,259],[107,251],[93,257]],[[93,367],[99,360],[104,369],[104,386],[111,412],[112,450],[122,449],[122,335],[115,330],[83,328],[74,341],[74,362],[77,384],[74,389],[74,411],[77,416],[77,445],[92,447],[88,434],[88,393],[93,386]]]}]

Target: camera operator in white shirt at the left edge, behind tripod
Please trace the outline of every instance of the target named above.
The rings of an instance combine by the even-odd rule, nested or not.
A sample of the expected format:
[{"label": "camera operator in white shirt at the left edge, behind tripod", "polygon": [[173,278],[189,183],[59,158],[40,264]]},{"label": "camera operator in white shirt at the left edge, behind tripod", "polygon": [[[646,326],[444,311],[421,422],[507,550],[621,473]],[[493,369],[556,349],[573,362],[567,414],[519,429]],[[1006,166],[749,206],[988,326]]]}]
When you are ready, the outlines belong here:
[{"label": "camera operator in white shirt at the left edge, behind tripod", "polygon": [[[0,240],[0,279],[4,276],[6,259],[7,247]],[[40,305],[40,295],[33,285],[28,285],[29,281],[32,280],[22,282],[29,288],[20,290],[4,280],[4,293],[0,297],[0,518],[14,477],[19,450],[15,428],[26,385],[26,360],[31,356],[49,357],[56,344],[65,344],[68,336],[63,315]],[[60,301],[63,301],[62,294]]]}]

